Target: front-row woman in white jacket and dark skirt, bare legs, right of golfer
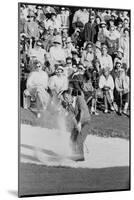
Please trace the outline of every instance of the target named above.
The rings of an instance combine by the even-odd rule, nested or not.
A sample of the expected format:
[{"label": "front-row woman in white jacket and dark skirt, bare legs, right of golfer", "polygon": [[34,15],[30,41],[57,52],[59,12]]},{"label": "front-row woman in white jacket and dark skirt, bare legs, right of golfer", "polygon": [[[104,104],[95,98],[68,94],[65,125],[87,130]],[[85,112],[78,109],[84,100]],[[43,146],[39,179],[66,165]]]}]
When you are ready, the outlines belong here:
[{"label": "front-row woman in white jacket and dark skirt, bare legs, right of golfer", "polygon": [[108,113],[108,105],[110,105],[110,109],[114,111],[113,107],[114,81],[112,76],[110,75],[109,67],[104,68],[103,74],[100,76],[99,88],[103,91],[104,105],[105,105],[104,113]]}]

